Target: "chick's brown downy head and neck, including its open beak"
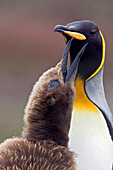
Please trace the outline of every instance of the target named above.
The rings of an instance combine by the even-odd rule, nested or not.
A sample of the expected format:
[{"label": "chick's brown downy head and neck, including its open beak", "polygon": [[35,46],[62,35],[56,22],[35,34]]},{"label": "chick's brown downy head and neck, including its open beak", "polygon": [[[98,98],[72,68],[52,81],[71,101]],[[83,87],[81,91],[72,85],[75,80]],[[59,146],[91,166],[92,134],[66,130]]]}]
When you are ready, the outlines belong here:
[{"label": "chick's brown downy head and neck, including its open beak", "polygon": [[[72,39],[66,45],[63,59],[43,73],[34,85],[25,109],[24,136],[31,140],[51,138],[60,144],[63,136],[68,135],[75,99],[74,77],[78,61],[87,46],[80,50],[67,71],[71,42]],[[67,142],[64,140],[62,145],[67,145]]]}]

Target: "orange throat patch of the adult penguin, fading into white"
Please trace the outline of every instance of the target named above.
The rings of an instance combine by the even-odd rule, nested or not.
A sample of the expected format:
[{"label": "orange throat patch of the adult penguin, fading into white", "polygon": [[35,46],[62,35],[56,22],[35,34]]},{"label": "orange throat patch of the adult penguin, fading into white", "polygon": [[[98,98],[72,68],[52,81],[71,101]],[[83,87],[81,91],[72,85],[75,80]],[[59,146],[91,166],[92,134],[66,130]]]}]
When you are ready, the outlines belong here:
[{"label": "orange throat patch of the adult penguin, fading into white", "polygon": [[75,102],[74,102],[74,113],[75,111],[81,111],[84,113],[99,113],[98,108],[90,101],[85,92],[85,82],[78,76],[75,80]]}]

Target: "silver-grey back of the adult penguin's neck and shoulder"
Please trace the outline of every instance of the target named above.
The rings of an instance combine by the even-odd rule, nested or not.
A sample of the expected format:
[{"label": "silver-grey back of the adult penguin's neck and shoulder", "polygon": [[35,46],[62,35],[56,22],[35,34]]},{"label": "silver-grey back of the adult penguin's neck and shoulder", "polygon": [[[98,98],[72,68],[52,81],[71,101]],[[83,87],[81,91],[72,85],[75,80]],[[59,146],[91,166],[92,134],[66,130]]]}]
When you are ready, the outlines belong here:
[{"label": "silver-grey back of the adult penguin's neck and shoulder", "polygon": [[103,70],[104,66],[101,68],[98,74],[96,74],[94,77],[86,82],[85,91],[90,100],[101,110],[103,110],[107,114],[108,118],[111,119],[112,113],[107,104],[104,92]]}]

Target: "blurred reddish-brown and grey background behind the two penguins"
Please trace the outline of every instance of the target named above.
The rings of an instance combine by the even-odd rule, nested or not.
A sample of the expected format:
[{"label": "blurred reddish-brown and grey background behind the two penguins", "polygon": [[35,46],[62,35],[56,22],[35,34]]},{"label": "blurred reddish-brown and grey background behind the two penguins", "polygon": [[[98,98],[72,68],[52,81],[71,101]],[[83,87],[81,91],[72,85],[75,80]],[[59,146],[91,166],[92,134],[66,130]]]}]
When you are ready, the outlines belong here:
[{"label": "blurred reddish-brown and grey background behind the two penguins", "polygon": [[54,26],[89,19],[106,40],[104,85],[113,112],[112,0],[0,0],[0,141],[20,135],[33,84],[61,58]]}]

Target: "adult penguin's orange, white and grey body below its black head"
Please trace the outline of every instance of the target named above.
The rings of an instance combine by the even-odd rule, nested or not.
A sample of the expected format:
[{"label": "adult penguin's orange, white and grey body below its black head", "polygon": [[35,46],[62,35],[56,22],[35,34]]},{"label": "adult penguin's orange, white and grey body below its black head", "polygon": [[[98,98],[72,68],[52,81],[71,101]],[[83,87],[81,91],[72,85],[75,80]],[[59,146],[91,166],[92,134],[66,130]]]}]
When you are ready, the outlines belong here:
[{"label": "adult penguin's orange, white and grey body below its black head", "polygon": [[[112,164],[113,143],[107,122],[98,109],[101,107],[106,110],[107,116],[111,117],[102,80],[103,70],[87,82],[84,82],[80,76],[77,76],[75,81],[76,97],[69,133],[69,146],[71,150],[80,155],[77,160],[78,169],[84,169],[84,167],[86,169],[89,167],[90,169],[110,169],[107,167]],[[102,167],[101,160],[107,160],[106,167],[105,165]]]}]

